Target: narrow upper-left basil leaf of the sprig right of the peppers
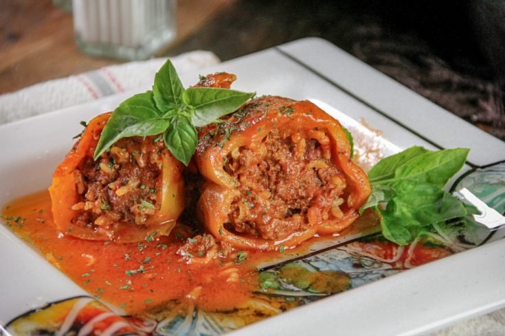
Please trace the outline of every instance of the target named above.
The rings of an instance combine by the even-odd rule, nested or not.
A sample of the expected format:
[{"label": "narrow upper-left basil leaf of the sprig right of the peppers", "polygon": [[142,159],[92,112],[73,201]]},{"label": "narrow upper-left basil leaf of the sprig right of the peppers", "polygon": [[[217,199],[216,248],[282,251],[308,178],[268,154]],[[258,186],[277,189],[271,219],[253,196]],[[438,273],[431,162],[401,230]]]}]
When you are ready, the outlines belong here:
[{"label": "narrow upper-left basil leaf of the sprig right of the peppers", "polygon": [[398,154],[383,158],[379,161],[379,163],[377,163],[377,165],[374,165],[374,167],[370,169],[368,172],[368,180],[370,180],[370,182],[375,182],[378,180],[394,178],[394,173],[398,167],[407,163],[408,160],[428,152],[428,149],[414,146],[407,148]]}]

